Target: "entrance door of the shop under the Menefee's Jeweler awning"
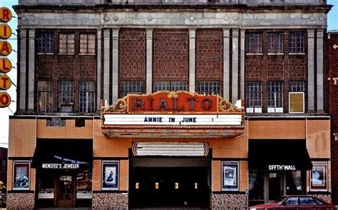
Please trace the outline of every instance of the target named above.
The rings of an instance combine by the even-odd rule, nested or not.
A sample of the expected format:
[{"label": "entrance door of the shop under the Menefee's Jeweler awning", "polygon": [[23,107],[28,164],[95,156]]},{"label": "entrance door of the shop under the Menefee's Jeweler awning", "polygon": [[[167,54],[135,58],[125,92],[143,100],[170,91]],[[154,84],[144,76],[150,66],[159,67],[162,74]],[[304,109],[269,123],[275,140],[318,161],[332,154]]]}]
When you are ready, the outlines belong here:
[{"label": "entrance door of the shop under the Menefee's Jeweler awning", "polygon": [[71,174],[59,174],[56,194],[56,206],[58,207],[73,207],[75,206],[76,194],[76,179]]}]

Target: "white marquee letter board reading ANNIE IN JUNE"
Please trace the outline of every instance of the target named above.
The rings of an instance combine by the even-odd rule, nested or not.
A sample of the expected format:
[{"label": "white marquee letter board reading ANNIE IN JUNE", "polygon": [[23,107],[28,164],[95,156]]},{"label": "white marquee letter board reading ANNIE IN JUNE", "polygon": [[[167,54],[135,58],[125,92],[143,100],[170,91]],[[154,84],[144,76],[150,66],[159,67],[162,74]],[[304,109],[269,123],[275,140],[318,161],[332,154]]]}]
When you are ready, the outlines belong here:
[{"label": "white marquee letter board reading ANNIE IN JUNE", "polygon": [[238,114],[106,114],[104,116],[105,125],[240,126],[241,123],[242,116]]}]

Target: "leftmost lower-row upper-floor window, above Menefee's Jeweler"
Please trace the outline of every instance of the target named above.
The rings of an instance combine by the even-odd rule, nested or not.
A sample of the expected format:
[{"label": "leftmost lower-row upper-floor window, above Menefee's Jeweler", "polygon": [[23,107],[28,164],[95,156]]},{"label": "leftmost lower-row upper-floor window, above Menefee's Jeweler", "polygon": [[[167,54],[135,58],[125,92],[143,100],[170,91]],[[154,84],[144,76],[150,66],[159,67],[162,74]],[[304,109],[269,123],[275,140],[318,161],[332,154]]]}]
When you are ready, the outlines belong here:
[{"label": "leftmost lower-row upper-floor window, above Menefee's Jeweler", "polygon": [[53,82],[38,81],[38,112],[53,111]]}]

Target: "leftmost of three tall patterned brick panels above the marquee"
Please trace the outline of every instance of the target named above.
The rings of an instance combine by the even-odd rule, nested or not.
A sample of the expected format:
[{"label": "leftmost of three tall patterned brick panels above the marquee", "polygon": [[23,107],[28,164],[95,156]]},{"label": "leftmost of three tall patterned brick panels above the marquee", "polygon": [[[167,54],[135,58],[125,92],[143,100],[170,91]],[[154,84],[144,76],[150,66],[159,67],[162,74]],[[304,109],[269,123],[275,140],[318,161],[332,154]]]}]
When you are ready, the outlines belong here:
[{"label": "leftmost of three tall patterned brick panels above the marquee", "polygon": [[119,79],[145,81],[145,29],[120,29]]}]

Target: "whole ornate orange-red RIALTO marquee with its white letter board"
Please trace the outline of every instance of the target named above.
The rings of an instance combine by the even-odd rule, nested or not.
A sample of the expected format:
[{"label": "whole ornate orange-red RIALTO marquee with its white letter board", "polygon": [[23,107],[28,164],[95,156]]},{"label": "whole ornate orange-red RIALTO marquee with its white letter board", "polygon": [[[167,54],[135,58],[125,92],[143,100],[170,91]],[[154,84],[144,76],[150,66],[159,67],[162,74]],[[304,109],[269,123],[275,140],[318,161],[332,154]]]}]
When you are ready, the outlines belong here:
[{"label": "whole ornate orange-red RIALTO marquee with its white letter board", "polygon": [[112,137],[225,137],[244,129],[242,106],[187,91],[132,94],[101,110],[103,134]]}]

